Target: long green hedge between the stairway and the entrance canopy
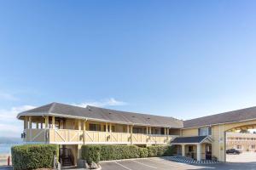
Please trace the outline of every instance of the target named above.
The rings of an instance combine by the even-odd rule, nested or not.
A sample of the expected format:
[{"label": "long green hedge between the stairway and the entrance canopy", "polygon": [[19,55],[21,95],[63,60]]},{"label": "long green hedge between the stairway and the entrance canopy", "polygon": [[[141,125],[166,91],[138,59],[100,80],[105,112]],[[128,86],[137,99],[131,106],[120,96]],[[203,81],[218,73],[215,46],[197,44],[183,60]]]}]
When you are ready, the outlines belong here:
[{"label": "long green hedge between the stairway and the entrance canopy", "polygon": [[138,157],[172,156],[172,146],[159,145],[140,148],[136,145],[88,144],[82,146],[82,159],[89,164]]}]

